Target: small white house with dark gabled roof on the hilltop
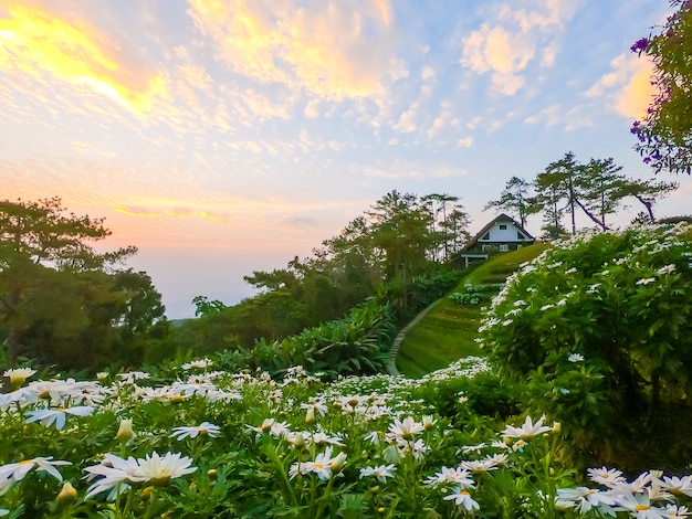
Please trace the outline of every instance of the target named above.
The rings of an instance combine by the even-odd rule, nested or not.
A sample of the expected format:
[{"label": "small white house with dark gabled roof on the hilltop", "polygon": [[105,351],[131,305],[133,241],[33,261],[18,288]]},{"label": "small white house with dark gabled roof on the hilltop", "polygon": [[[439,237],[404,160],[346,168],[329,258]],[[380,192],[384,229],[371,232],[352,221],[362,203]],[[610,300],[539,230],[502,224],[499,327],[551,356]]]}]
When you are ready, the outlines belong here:
[{"label": "small white house with dark gabled roof on the hilltop", "polygon": [[534,242],[534,237],[524,227],[503,213],[466,243],[459,253],[459,260],[462,266],[468,267],[473,262],[487,260],[491,251],[516,251]]}]

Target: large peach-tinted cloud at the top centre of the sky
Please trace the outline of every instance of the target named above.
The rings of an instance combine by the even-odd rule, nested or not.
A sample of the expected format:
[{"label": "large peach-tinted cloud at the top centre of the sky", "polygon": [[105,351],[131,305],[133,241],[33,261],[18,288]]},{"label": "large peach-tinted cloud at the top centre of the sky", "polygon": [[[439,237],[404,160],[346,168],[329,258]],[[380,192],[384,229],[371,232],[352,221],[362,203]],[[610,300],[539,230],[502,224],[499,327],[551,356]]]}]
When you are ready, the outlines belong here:
[{"label": "large peach-tinted cloud at the top centre of the sky", "polygon": [[331,100],[373,97],[406,74],[388,0],[189,0],[188,14],[235,72]]}]

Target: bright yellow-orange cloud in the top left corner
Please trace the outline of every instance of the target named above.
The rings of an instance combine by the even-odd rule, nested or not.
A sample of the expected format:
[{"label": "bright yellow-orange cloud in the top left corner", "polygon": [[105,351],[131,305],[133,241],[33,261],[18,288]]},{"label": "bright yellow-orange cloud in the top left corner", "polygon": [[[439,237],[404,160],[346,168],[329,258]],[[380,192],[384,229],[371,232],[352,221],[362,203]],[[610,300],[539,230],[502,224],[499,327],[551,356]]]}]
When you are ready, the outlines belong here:
[{"label": "bright yellow-orange cloud in the top left corner", "polygon": [[[160,73],[118,62],[112,42],[84,20],[39,7],[10,4],[0,18],[0,70],[84,86],[141,114],[167,91]],[[0,11],[2,17],[2,11]]]}]

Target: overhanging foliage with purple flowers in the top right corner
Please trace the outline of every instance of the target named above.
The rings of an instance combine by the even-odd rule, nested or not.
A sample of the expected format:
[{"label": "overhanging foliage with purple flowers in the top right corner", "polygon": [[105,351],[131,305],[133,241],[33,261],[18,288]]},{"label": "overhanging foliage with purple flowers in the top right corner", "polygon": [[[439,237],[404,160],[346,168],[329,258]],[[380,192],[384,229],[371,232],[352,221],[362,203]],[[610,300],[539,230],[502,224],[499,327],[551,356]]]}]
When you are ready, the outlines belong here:
[{"label": "overhanging foliage with purple flowers in the top right corner", "polygon": [[658,34],[642,38],[632,52],[653,63],[656,88],[647,116],[635,121],[636,149],[658,173],[692,171],[692,2],[671,0],[678,6]]}]

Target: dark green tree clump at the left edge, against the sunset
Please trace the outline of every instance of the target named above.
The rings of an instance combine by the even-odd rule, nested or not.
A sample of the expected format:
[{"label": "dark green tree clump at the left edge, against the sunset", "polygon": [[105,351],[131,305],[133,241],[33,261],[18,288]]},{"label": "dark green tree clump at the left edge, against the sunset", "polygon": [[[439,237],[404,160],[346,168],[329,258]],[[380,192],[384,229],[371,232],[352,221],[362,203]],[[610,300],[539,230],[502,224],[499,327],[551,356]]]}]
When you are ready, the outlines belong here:
[{"label": "dark green tree clump at the left edge, against the sunset", "polygon": [[119,350],[137,366],[165,335],[160,295],[148,275],[118,269],[134,247],[98,253],[103,219],[66,213],[59,198],[0,202],[0,333],[7,363],[103,366]]}]

